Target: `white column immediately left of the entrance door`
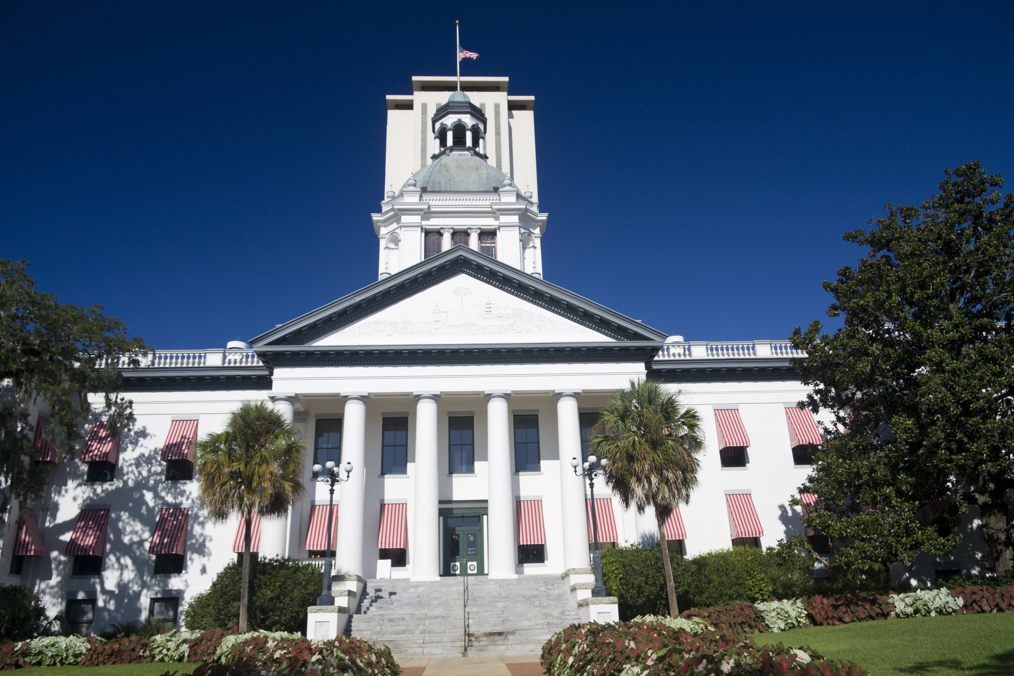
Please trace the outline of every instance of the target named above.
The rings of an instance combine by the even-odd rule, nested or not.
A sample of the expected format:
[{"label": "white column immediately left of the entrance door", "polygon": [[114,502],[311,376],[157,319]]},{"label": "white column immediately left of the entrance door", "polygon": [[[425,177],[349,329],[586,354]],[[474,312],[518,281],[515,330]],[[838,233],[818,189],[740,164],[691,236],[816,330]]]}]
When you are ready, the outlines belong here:
[{"label": "white column immediately left of the entrance door", "polygon": [[416,501],[412,579],[440,579],[440,516],[437,468],[437,401],[440,392],[413,392],[416,398]]}]

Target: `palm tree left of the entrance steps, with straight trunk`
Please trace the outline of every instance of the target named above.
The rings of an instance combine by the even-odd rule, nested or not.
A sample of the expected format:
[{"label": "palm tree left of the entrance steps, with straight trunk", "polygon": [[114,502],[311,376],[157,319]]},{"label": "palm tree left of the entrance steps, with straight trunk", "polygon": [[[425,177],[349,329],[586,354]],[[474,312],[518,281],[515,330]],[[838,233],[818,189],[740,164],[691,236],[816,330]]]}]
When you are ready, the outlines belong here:
[{"label": "palm tree left of the entrance steps, with straight trunk", "polygon": [[264,401],[243,403],[225,430],[197,443],[201,505],[213,521],[243,518],[243,575],[239,589],[239,631],[246,631],[254,516],[285,514],[302,495],[303,439]]}]

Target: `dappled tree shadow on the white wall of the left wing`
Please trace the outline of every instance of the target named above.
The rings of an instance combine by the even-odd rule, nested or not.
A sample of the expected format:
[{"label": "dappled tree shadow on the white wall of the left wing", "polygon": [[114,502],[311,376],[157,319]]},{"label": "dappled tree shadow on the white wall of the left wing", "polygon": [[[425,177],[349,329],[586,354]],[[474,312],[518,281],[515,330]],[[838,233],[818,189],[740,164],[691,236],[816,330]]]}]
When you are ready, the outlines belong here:
[{"label": "dappled tree shadow on the white wall of the left wing", "polygon": [[[57,470],[64,472],[64,480],[53,486],[51,511],[59,520],[47,515],[50,553],[31,572],[51,614],[62,613],[67,598],[95,598],[92,630],[97,633],[113,623],[146,620],[152,597],[177,596],[182,616],[189,581],[217,572],[208,570],[211,524],[198,508],[198,483],[165,480],[157,441],[145,427],[125,432],[112,481],[86,482],[87,467],[76,458]],[[55,478],[59,481],[59,473]],[[159,512],[171,507],[190,508],[184,572],[155,575],[155,556],[148,547]],[[64,551],[79,511],[88,508],[110,509],[101,573],[72,576],[73,558]]]}]

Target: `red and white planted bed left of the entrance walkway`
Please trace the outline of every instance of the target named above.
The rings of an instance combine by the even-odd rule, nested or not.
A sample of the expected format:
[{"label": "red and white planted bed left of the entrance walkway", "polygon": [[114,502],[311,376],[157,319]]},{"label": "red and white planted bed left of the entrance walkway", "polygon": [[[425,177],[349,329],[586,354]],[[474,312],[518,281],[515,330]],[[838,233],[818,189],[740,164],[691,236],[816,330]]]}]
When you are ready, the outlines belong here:
[{"label": "red and white planted bed left of the entrance walkway", "polygon": [[297,633],[274,631],[169,631],[151,639],[121,635],[110,641],[42,636],[0,646],[0,670],[144,662],[199,662],[194,672],[199,676],[255,676],[263,671],[285,676],[396,676],[402,671],[386,646],[345,636],[310,643]]}]

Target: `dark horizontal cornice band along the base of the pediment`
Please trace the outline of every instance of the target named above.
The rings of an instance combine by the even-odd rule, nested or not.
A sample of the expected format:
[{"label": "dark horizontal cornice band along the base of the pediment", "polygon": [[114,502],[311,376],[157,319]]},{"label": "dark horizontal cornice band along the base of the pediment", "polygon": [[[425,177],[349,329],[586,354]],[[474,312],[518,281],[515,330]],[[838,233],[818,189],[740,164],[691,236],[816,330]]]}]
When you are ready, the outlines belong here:
[{"label": "dark horizontal cornice band along the base of the pediment", "polygon": [[[258,349],[272,368],[287,366],[436,366],[441,364],[575,364],[648,362],[658,353],[653,342],[524,343],[500,345],[351,346],[300,350],[297,346]],[[315,348],[316,346],[311,346]]]}]

